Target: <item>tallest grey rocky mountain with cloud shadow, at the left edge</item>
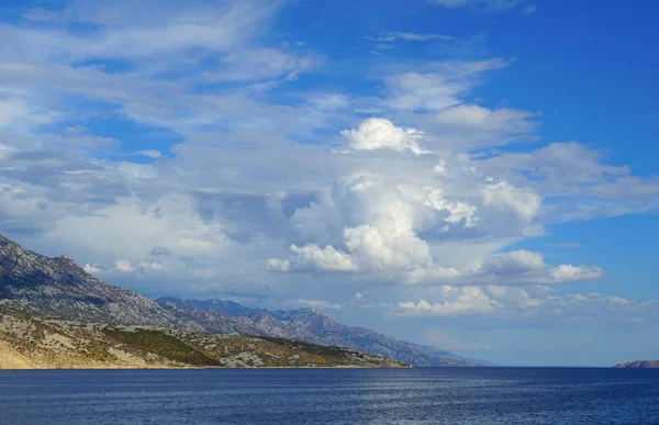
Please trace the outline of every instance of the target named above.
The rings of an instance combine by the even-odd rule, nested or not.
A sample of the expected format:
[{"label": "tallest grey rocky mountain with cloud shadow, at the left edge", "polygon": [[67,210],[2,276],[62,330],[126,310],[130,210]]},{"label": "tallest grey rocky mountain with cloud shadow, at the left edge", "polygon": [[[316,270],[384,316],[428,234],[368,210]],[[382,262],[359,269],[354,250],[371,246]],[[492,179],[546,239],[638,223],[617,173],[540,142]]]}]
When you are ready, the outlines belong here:
[{"label": "tallest grey rocky mountain with cloud shadow, at the left edge", "polygon": [[203,331],[177,320],[146,297],[94,278],[67,256],[48,258],[2,235],[0,312]]}]

